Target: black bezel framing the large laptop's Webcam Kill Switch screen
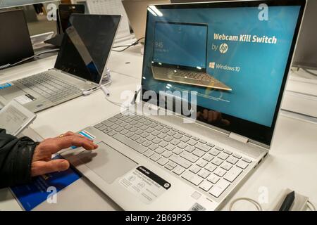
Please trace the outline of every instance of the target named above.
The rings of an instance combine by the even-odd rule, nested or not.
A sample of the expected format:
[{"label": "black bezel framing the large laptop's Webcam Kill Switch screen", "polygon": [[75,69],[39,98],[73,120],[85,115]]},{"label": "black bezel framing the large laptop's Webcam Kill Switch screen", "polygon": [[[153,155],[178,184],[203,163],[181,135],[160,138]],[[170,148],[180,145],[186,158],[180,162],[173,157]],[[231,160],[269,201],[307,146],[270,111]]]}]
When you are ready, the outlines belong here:
[{"label": "black bezel framing the large laptop's Webcam Kill Switch screen", "polygon": [[[280,104],[282,101],[282,95],[285,90],[285,85],[287,82],[287,75],[290,72],[290,66],[292,63],[292,58],[294,56],[294,49],[297,43],[298,35],[299,35],[299,29],[302,25],[302,18],[304,14],[304,8],[306,5],[306,1],[302,0],[293,0],[293,1],[287,1],[287,0],[279,0],[279,1],[271,1],[271,0],[264,0],[264,1],[217,1],[217,2],[204,2],[204,3],[185,3],[185,4],[160,4],[155,5],[157,9],[181,9],[181,8],[237,8],[237,7],[259,7],[260,4],[266,4],[267,6],[300,6],[299,9],[299,16],[297,19],[297,25],[294,30],[294,37],[292,39],[292,44],[290,47],[290,53],[287,58],[287,64],[285,66],[285,72],[282,78],[282,84],[280,86],[280,93],[278,94],[278,101],[275,107],[275,112],[273,115],[273,121],[271,124],[271,127],[266,127],[261,124],[257,124],[255,122],[250,122],[248,120],[243,120],[238,117],[234,117],[231,115],[225,115],[225,117],[230,118],[231,121],[235,122],[237,124],[236,127],[238,128],[223,128],[219,127],[216,124],[208,124],[202,120],[197,121],[202,124],[206,124],[208,127],[215,127],[216,129],[221,129],[224,131],[228,131],[228,133],[233,132],[235,134],[240,134],[242,136],[247,137],[249,140],[253,140],[255,143],[261,143],[261,146],[264,146],[266,148],[269,148],[271,146],[271,141],[273,138],[273,132],[275,129],[276,121],[278,118],[278,112],[280,110]],[[149,11],[147,11],[147,24],[149,20]],[[147,27],[146,27],[146,34],[145,34],[145,44],[144,44],[144,55],[147,52]],[[147,66],[147,62],[145,57],[143,57],[143,66],[142,66],[142,77],[144,76],[144,68]],[[144,83],[144,79],[142,79],[142,86]],[[143,98],[144,92],[148,91],[147,89],[142,89],[142,101],[147,102],[149,99]],[[157,94],[157,105],[159,105],[159,94]],[[197,111],[201,110],[210,110],[208,108],[203,108],[199,105],[197,105]],[[220,112],[221,113],[221,112]]]}]

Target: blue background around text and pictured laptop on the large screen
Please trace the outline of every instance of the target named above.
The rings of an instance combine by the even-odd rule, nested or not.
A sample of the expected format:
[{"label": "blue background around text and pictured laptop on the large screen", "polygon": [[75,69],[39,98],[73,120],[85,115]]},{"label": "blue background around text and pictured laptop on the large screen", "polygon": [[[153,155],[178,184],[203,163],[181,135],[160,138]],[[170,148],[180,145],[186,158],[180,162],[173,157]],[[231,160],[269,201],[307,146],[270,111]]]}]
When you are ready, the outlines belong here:
[{"label": "blue background around text and pictured laptop on the large screen", "polygon": [[[143,88],[156,92],[194,90],[198,95],[197,104],[204,108],[271,127],[300,7],[270,6],[268,9],[269,17],[264,21],[259,20],[257,7],[160,9],[162,17],[149,13],[142,74]],[[153,79],[151,60],[156,21],[208,24],[207,73],[230,86],[232,91],[217,91]],[[278,43],[215,40],[214,33],[274,35],[278,38]],[[168,33],[166,36],[171,37]],[[226,53],[212,50],[213,44],[219,46],[223,43],[228,44]],[[199,57],[197,54],[197,58]],[[240,66],[240,72],[211,69],[210,62]]]}]

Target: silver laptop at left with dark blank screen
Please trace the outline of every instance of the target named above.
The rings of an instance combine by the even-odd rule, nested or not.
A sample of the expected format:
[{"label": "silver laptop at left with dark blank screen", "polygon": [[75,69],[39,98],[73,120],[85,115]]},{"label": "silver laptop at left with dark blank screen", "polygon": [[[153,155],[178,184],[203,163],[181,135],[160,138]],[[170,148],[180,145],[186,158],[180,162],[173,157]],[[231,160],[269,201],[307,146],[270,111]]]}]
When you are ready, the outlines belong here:
[{"label": "silver laptop at left with dark blank screen", "polygon": [[54,68],[0,84],[0,105],[15,99],[35,113],[99,86],[120,18],[73,14]]}]

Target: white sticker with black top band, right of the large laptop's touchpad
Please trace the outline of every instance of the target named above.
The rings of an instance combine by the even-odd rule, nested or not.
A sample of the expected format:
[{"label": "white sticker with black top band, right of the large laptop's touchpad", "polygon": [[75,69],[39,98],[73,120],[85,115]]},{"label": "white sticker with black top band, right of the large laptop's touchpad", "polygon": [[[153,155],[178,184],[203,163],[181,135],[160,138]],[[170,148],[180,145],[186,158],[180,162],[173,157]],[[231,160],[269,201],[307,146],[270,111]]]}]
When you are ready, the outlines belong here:
[{"label": "white sticker with black top band, right of the large laptop's touchpad", "polygon": [[125,174],[119,183],[146,204],[152,203],[170,188],[170,183],[142,166]]}]

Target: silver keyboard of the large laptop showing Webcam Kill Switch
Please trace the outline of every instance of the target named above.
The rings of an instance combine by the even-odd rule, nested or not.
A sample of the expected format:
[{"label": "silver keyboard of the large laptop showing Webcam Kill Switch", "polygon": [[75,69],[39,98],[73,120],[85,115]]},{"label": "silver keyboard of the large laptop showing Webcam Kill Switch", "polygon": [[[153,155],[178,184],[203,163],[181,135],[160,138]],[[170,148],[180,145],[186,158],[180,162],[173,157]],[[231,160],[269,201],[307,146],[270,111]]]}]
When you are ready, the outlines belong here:
[{"label": "silver keyboard of the large laptop showing Webcam Kill Switch", "polygon": [[252,162],[140,115],[119,113],[94,127],[216,198]]}]

